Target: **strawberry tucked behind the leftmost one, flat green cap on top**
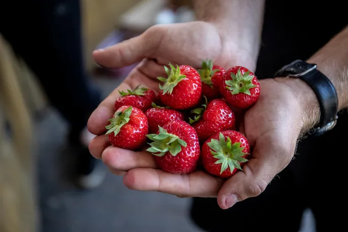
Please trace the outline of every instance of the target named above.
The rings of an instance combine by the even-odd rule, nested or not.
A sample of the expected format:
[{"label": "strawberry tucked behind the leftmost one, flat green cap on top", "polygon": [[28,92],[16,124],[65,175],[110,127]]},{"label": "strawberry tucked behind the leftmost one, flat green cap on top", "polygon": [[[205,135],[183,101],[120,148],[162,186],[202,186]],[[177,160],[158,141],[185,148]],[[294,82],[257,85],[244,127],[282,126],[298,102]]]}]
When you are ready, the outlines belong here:
[{"label": "strawberry tucked behind the leftmost one, flat green cap on top", "polygon": [[127,89],[127,92],[119,91],[120,97],[115,101],[115,110],[121,106],[134,106],[142,111],[151,107],[152,102],[156,102],[156,94],[153,90],[138,85],[135,89]]}]

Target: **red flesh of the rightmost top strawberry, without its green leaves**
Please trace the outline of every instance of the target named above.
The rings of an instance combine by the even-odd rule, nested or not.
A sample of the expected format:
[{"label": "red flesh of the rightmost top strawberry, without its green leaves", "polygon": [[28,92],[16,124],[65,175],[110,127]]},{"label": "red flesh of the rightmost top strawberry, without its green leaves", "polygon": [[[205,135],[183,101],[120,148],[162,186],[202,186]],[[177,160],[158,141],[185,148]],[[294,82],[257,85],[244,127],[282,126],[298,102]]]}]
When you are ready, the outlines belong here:
[{"label": "red flesh of the rightmost top strawberry, without its green leaves", "polygon": [[245,93],[238,93],[238,94],[232,94],[230,89],[227,89],[228,85],[226,84],[226,81],[231,80],[231,73],[237,74],[238,69],[240,69],[241,73],[244,74],[245,72],[249,71],[248,69],[240,66],[233,67],[226,71],[222,85],[220,85],[220,92],[224,96],[226,102],[228,102],[232,107],[235,107],[237,109],[247,109],[254,105],[260,97],[260,83],[255,77],[254,73],[250,72],[250,75],[254,76],[252,79],[252,84],[256,85],[254,88],[250,88],[250,95]]}]

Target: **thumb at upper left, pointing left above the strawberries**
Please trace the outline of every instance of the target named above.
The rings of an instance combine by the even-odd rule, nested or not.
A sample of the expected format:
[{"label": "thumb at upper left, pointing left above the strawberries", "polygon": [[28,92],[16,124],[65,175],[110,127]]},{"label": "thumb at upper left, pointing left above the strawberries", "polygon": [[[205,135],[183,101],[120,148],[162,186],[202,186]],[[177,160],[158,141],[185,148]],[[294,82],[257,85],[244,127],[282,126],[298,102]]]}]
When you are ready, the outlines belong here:
[{"label": "thumb at upper left, pointing left above the strawberries", "polygon": [[149,33],[122,41],[105,49],[93,51],[92,56],[96,63],[105,68],[122,68],[141,61],[154,51],[158,43]]}]

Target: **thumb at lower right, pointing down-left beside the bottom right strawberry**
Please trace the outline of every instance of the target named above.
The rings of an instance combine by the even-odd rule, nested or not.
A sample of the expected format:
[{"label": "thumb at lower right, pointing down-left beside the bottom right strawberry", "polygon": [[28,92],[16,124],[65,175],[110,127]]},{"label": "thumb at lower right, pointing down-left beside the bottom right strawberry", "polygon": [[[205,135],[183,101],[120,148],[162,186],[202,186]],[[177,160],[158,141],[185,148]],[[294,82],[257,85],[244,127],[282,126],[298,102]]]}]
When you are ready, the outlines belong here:
[{"label": "thumb at lower right, pointing down-left beside the bottom right strawberry", "polygon": [[[257,147],[260,144],[256,144]],[[258,154],[258,152],[262,152]],[[228,179],[217,196],[217,203],[222,209],[231,208],[239,201],[260,195],[270,181],[290,162],[292,153],[273,146],[272,143],[255,150],[257,158],[251,158],[243,167],[243,171]],[[279,162],[280,157],[282,163]]]}]

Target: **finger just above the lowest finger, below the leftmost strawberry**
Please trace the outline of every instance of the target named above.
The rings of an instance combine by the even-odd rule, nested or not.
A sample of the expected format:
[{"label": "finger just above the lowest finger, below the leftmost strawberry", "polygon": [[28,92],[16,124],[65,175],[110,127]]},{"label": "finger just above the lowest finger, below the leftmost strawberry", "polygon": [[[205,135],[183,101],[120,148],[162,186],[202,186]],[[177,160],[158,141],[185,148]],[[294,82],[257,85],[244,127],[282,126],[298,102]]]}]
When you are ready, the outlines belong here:
[{"label": "finger just above the lowest finger, below the leftmost strawberry", "polygon": [[149,152],[134,152],[112,146],[103,151],[102,160],[109,168],[125,172],[135,168],[157,168]]}]

